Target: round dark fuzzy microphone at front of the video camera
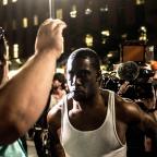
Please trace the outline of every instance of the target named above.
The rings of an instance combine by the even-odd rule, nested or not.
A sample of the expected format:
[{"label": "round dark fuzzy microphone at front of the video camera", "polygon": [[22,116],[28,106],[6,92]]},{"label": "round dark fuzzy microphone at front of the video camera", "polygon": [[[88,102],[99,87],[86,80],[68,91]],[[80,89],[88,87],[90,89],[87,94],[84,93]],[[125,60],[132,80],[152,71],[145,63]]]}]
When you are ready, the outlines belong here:
[{"label": "round dark fuzzy microphone at front of the video camera", "polygon": [[120,63],[118,67],[118,75],[121,80],[129,82],[134,81],[140,74],[140,67],[134,61]]}]

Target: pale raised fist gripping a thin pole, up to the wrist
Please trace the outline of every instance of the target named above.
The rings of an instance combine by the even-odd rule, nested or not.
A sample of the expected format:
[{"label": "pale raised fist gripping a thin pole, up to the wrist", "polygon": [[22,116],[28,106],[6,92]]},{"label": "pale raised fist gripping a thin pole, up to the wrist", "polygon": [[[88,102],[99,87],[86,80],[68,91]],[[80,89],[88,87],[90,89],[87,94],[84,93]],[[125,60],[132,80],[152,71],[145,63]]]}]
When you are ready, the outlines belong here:
[{"label": "pale raised fist gripping a thin pole, up to the wrist", "polygon": [[63,51],[62,32],[67,27],[61,20],[46,20],[38,29],[35,43],[35,52],[53,51],[57,58]]}]

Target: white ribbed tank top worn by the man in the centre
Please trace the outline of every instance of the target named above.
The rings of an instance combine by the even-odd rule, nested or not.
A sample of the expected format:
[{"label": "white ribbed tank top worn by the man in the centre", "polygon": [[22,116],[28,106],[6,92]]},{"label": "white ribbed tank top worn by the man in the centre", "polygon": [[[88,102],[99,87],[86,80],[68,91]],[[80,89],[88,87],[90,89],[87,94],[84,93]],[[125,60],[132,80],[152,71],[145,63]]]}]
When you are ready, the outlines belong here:
[{"label": "white ribbed tank top worn by the man in the centre", "polygon": [[116,130],[114,93],[109,90],[106,119],[93,131],[80,131],[70,123],[65,99],[60,140],[67,157],[126,157],[126,145]]}]

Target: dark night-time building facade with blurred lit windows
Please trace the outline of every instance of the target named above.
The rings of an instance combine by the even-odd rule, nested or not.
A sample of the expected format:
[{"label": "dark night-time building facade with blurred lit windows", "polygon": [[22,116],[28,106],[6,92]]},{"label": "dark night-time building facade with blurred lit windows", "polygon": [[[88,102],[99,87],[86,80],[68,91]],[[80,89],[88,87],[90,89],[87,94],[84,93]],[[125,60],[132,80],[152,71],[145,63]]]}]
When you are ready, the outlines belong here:
[{"label": "dark night-time building facade with blurred lit windows", "polygon": [[11,58],[34,53],[37,28],[50,14],[68,24],[64,56],[87,46],[104,58],[110,51],[119,53],[123,40],[157,44],[156,0],[1,0],[0,26]]}]

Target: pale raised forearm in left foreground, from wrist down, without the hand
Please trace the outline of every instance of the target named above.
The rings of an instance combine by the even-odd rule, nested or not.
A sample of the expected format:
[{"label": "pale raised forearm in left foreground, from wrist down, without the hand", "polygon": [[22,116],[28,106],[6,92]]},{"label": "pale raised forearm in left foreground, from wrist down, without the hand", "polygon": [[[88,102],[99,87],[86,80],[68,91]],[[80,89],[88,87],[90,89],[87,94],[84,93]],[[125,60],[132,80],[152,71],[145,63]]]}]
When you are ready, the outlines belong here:
[{"label": "pale raised forearm in left foreground, from wrist down, without the hand", "polygon": [[[51,88],[56,60],[51,51],[37,53],[0,89],[1,143],[23,135],[40,116]],[[8,130],[12,131],[5,138]]]}]

